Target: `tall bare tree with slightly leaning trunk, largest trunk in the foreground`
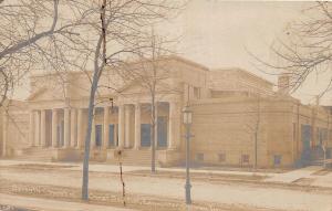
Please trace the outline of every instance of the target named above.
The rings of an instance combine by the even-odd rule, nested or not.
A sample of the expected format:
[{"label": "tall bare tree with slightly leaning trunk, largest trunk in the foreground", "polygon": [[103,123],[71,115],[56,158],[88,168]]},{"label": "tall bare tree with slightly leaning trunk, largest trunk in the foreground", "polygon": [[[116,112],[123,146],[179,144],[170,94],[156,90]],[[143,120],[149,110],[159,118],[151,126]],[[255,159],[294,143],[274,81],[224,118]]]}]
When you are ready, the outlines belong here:
[{"label": "tall bare tree with slightly leaning trunk, largest trunk in the foreground", "polygon": [[90,144],[100,78],[106,67],[117,68],[128,55],[139,52],[142,46],[136,41],[145,40],[146,28],[165,19],[177,7],[166,0],[103,0],[100,3],[91,0],[82,8],[82,11],[93,11],[86,19],[90,33],[95,34],[82,183],[82,199],[89,200]]}]

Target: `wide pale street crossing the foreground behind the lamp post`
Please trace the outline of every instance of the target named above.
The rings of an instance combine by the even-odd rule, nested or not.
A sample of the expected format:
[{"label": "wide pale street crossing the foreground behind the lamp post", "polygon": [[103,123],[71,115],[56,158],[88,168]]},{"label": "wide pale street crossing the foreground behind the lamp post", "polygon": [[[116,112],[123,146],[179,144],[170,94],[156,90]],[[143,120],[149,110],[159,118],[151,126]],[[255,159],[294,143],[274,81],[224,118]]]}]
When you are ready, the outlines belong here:
[{"label": "wide pale street crossing the foreground behind the lamp post", "polygon": [[[93,168],[93,165],[92,169]],[[127,167],[131,169],[131,167]],[[105,166],[105,169],[107,167]],[[116,167],[111,167],[111,171],[116,171]],[[126,167],[124,167],[126,169]],[[144,197],[162,199],[159,201],[176,200],[180,203],[184,201],[184,178],[172,177],[175,172],[163,175],[160,177],[149,175],[135,175],[139,172],[139,168],[134,171],[125,171],[125,191],[129,198]],[[144,169],[144,168],[143,168]],[[308,170],[308,169],[305,169]],[[313,169],[314,171],[317,169]],[[106,171],[106,172],[105,172]],[[10,183],[28,183],[45,187],[65,187],[69,189],[80,190],[81,171],[77,166],[61,166],[58,165],[31,165],[31,163],[12,163],[1,166],[0,181],[10,181]],[[237,177],[237,172],[234,176]],[[104,171],[91,172],[90,189],[103,192],[114,192],[121,194],[122,186],[118,173]],[[273,175],[280,177],[279,175]],[[255,182],[239,182],[229,179],[206,180],[194,179],[193,184],[193,201],[194,203],[209,204],[215,203],[219,207],[227,208],[236,204],[237,208],[250,209],[271,209],[271,210],[332,210],[332,189],[331,187],[317,187],[305,189],[305,186],[269,186],[267,180],[259,179]],[[331,179],[332,172],[321,176],[325,180]],[[247,176],[250,178],[251,176]],[[318,176],[317,176],[318,177]],[[3,190],[2,190],[3,191]],[[20,191],[17,191],[20,192]],[[38,197],[35,194],[34,197]],[[131,201],[128,201],[131,203]]]}]

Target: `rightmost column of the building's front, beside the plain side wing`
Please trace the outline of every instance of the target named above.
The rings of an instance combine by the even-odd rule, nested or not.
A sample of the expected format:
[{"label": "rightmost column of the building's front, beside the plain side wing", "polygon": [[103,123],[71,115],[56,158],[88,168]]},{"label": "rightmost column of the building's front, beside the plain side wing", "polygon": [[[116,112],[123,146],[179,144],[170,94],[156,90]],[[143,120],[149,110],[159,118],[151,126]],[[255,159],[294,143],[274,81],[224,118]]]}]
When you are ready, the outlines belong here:
[{"label": "rightmost column of the building's front, beside the plain side wing", "polygon": [[168,149],[175,149],[180,136],[180,108],[177,103],[169,102]]}]

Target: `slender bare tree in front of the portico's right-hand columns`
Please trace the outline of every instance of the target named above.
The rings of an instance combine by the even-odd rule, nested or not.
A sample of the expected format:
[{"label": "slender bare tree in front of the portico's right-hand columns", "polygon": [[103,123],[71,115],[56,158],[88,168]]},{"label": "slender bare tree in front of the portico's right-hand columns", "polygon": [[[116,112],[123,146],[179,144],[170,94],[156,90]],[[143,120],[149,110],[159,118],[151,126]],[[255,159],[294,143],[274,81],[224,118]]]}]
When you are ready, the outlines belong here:
[{"label": "slender bare tree in front of the portico's right-hand columns", "polygon": [[[167,80],[170,77],[169,68],[165,66],[165,57],[172,52],[170,44],[175,40],[166,40],[155,34],[154,29],[146,42],[142,42],[139,52],[135,59],[138,62],[124,64],[118,73],[125,83],[136,82],[143,87],[143,92],[149,95],[151,101],[151,145],[152,162],[151,171],[156,171],[156,145],[157,145],[157,96],[165,92],[175,92]],[[160,96],[159,96],[160,97]]]}]

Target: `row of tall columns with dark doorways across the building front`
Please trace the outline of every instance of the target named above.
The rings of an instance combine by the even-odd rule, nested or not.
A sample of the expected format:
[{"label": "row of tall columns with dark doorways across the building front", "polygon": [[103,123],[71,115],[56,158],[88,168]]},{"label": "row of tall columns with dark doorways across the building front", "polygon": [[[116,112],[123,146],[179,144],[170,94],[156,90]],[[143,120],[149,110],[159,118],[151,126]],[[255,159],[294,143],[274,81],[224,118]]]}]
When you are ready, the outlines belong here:
[{"label": "row of tall columns with dark doorways across the building front", "polygon": [[[179,139],[180,107],[176,102],[157,104],[158,149],[175,149]],[[82,149],[87,108],[63,107],[30,110],[30,145],[39,148]],[[121,103],[94,110],[92,150],[149,149],[151,104]]]}]

